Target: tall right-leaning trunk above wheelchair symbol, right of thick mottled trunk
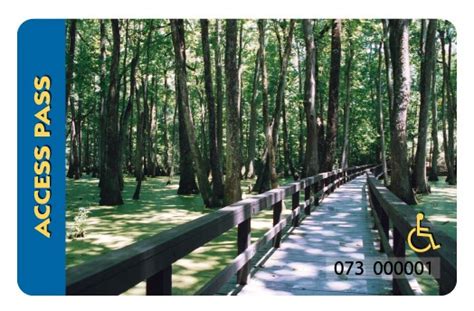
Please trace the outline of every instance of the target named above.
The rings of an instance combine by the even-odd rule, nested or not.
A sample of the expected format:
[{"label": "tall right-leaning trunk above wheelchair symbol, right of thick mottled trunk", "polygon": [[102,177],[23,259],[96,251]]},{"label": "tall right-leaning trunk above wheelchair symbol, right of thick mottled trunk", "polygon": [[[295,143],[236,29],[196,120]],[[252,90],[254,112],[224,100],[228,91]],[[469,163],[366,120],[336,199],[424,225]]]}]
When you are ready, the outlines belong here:
[{"label": "tall right-leaning trunk above wheelchair symbol, right of thick mottled trunk", "polygon": [[418,145],[415,156],[415,184],[418,193],[429,193],[429,185],[426,179],[426,141],[428,137],[428,118],[431,105],[431,79],[433,77],[433,65],[436,58],[436,20],[430,20],[428,32],[424,44],[424,55],[421,60],[420,73],[420,115],[418,122]]}]

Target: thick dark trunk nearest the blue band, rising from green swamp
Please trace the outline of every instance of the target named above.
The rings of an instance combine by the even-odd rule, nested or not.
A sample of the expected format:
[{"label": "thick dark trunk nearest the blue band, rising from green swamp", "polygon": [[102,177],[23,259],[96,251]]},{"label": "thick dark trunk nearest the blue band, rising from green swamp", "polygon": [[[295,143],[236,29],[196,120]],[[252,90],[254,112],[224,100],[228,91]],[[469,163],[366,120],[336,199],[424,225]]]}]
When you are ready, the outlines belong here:
[{"label": "thick dark trunk nearest the blue band, rising from green swamp", "polygon": [[120,191],[121,167],[119,158],[119,133],[118,133],[118,91],[119,77],[118,66],[120,62],[120,29],[118,20],[112,23],[112,60],[110,64],[110,83],[107,92],[107,126],[105,128],[105,152],[104,152],[104,174],[101,174],[100,205],[120,205],[123,204]]}]

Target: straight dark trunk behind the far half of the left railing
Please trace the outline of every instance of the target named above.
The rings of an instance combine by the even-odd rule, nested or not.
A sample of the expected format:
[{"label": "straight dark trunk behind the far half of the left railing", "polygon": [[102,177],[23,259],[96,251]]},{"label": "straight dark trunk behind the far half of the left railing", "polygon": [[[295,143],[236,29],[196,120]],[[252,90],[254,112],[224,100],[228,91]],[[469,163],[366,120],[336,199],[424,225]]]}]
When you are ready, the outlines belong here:
[{"label": "straight dark trunk behind the far half of the left railing", "polygon": [[336,154],[339,71],[341,68],[341,31],[341,20],[335,19],[332,24],[331,33],[331,69],[329,74],[328,118],[323,171],[333,169]]}]

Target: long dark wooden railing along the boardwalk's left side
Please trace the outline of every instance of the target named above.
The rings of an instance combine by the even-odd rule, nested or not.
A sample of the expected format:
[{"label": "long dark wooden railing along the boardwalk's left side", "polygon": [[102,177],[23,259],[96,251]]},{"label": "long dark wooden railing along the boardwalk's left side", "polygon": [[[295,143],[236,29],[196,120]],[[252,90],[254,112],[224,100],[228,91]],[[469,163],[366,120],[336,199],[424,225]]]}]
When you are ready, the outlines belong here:
[{"label": "long dark wooden railing along the boardwalk's left side", "polygon": [[[210,295],[237,274],[237,282],[246,284],[250,260],[270,241],[279,247],[287,224],[298,226],[301,214],[309,215],[312,205],[340,185],[359,176],[363,165],[338,169],[308,177],[286,186],[241,200],[188,223],[159,233],[124,248],[110,251],[84,264],[67,269],[68,295],[118,295],[146,281],[147,295],[171,295],[172,264],[205,243],[237,226],[237,257],[197,294]],[[300,193],[304,200],[300,202]],[[282,218],[283,200],[292,198],[291,214]],[[273,227],[250,244],[251,220],[264,209],[273,209]]]}]

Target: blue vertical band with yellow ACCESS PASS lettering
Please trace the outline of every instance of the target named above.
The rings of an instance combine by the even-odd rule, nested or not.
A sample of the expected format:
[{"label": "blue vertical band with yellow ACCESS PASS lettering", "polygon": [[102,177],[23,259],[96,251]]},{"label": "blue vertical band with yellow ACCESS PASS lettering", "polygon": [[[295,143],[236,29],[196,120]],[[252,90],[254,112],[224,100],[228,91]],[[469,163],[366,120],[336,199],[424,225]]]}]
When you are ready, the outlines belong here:
[{"label": "blue vertical band with yellow ACCESS PASS lettering", "polygon": [[18,285],[30,295],[65,293],[65,25],[18,30]]}]

